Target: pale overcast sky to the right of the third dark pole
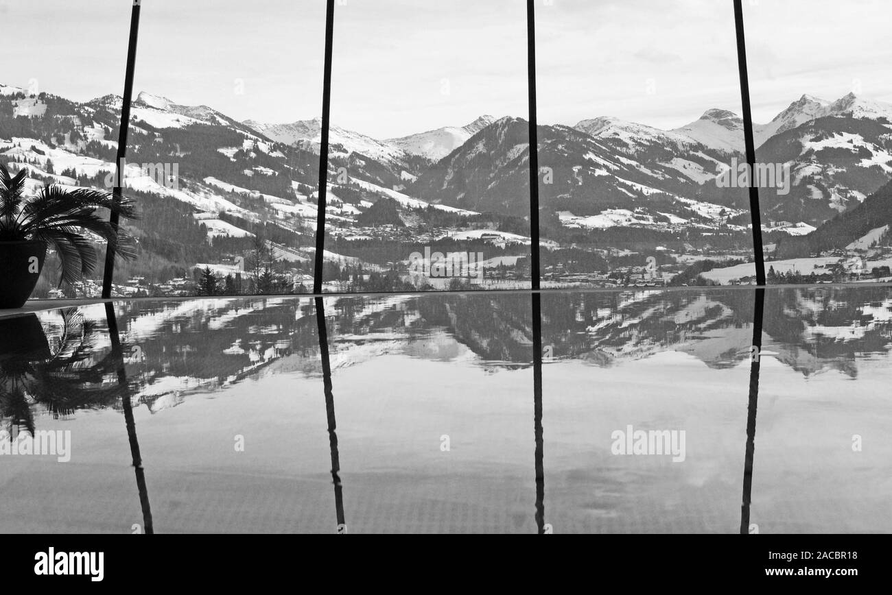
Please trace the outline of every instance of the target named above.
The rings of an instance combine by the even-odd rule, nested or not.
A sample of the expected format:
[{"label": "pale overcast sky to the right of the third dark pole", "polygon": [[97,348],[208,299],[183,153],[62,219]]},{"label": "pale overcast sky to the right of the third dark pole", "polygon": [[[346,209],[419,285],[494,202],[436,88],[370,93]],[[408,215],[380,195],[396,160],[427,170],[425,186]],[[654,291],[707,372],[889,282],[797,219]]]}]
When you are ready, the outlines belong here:
[{"label": "pale overcast sky to the right of the third dark pole", "polygon": [[[888,0],[744,0],[753,118],[803,94],[892,101]],[[671,128],[740,113],[731,0],[554,0],[536,12],[539,118]],[[624,23],[619,26],[617,23]]]}]

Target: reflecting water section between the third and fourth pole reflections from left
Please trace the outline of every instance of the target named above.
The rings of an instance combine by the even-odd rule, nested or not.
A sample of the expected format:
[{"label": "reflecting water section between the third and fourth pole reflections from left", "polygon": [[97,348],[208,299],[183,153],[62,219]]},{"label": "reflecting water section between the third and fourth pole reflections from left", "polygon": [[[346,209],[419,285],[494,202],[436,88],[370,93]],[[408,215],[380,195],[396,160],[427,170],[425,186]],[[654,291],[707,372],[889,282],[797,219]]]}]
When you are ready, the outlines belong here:
[{"label": "reflecting water section between the third and fourth pole reflections from left", "polygon": [[736,533],[752,294],[560,292],[541,307],[554,533]]}]

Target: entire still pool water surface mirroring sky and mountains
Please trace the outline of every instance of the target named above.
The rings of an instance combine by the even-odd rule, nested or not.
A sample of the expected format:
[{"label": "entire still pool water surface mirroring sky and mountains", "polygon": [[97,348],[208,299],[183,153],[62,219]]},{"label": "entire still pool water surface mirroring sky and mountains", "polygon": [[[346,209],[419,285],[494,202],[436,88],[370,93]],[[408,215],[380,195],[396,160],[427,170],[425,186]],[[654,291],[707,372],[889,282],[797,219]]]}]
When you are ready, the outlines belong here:
[{"label": "entire still pool water surface mirroring sky and mountains", "polygon": [[[892,531],[890,298],[766,291],[750,519],[761,533]],[[530,298],[325,302],[349,532],[534,533]],[[753,307],[749,290],[543,295],[555,533],[738,531]],[[95,322],[89,366],[111,341],[103,306],[81,313]],[[62,314],[39,320],[54,347]],[[312,300],[118,305],[116,321],[157,532],[335,531]],[[120,401],[58,419],[27,403],[37,429],[71,430],[71,461],[0,459],[0,526],[130,533],[142,512]],[[684,430],[685,461],[611,454],[629,425]]]}]

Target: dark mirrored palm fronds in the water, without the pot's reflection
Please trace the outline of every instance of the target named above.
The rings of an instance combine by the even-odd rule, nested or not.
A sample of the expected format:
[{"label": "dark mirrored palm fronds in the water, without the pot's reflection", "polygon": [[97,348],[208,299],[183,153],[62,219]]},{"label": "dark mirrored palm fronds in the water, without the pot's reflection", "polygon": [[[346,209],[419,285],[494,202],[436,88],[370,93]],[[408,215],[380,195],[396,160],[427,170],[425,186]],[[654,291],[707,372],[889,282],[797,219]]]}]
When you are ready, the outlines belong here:
[{"label": "dark mirrored palm fronds in the water, without the pot's reflection", "polygon": [[14,355],[0,363],[0,420],[8,420],[7,430],[14,425],[33,434],[31,405],[35,403],[58,417],[110,406],[126,394],[126,386],[103,382],[121,362],[113,353],[93,361],[95,334],[95,326],[77,310],[66,310],[62,334],[49,357]]}]

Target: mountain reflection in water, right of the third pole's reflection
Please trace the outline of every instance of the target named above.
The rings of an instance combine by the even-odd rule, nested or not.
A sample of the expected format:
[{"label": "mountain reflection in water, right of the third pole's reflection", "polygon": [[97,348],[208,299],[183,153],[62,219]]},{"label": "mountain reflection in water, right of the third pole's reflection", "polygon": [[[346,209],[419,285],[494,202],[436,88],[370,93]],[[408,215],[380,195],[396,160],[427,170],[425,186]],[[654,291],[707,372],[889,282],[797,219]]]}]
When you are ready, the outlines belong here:
[{"label": "mountain reflection in water, right of the third pole's reflection", "polygon": [[[545,297],[543,344],[556,358],[610,365],[665,350],[725,368],[749,357],[754,296],[747,290],[556,294]],[[892,290],[767,292],[763,353],[805,376],[857,373],[856,359],[889,350]]]}]

